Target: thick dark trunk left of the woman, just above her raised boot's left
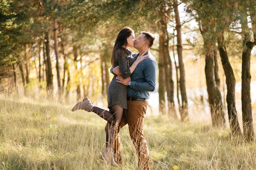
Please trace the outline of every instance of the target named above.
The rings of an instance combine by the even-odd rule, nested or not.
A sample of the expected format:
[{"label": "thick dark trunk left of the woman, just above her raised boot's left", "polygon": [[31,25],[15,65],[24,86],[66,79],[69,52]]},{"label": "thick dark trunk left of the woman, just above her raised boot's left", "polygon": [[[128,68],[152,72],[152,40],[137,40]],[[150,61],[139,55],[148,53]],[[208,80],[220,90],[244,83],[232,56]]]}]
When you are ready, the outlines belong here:
[{"label": "thick dark trunk left of the woman, just above her raised boot's left", "polygon": [[52,99],[53,95],[53,75],[52,75],[52,62],[50,57],[50,46],[49,46],[49,33],[45,32],[45,57],[46,57],[46,68],[47,68],[47,77],[46,77],[46,84],[47,84],[47,94],[50,99]]}]

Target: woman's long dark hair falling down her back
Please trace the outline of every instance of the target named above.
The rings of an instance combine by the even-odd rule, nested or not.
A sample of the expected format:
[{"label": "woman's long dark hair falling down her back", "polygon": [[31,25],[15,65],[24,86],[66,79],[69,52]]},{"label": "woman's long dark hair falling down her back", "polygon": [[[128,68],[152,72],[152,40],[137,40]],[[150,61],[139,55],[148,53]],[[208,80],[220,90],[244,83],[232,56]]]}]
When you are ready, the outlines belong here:
[{"label": "woman's long dark hair falling down her back", "polygon": [[115,41],[115,45],[112,51],[112,55],[111,55],[111,64],[114,65],[115,61],[117,60],[116,56],[119,53],[122,57],[124,57],[125,54],[125,50],[123,46],[127,46],[128,42],[127,42],[127,38],[130,37],[130,35],[132,35],[134,31],[126,26],[123,29],[121,29],[121,31],[119,32],[119,34],[117,35],[117,39]]}]

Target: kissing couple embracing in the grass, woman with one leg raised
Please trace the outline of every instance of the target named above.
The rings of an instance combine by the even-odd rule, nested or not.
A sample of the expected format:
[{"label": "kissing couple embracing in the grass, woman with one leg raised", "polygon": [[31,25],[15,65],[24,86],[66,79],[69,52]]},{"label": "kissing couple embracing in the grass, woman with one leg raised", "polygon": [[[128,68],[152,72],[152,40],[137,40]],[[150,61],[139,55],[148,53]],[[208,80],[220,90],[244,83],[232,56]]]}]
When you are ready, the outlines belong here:
[{"label": "kissing couple embracing in the grass, woman with one leg raised", "polygon": [[[88,97],[72,109],[94,112],[108,121],[106,148],[101,159],[111,166],[118,167],[117,163],[123,163],[119,130],[128,124],[130,137],[137,151],[138,170],[150,170],[143,128],[149,93],[156,87],[157,63],[149,51],[154,42],[155,36],[152,33],[143,31],[135,39],[135,33],[130,27],[123,28],[117,36],[111,57],[111,73],[114,78],[108,86],[110,111],[94,106]],[[131,55],[128,48],[132,46],[139,53]]]}]

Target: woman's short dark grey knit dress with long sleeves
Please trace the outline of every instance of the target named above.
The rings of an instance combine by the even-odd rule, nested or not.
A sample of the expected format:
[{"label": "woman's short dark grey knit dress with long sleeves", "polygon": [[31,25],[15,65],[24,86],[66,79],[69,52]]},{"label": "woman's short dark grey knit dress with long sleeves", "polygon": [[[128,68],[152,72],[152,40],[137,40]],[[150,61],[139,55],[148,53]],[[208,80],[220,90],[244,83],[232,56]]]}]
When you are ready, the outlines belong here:
[{"label": "woman's short dark grey knit dress with long sleeves", "polygon": [[[119,66],[123,78],[128,78],[131,75],[129,66],[134,62],[131,54],[127,49],[120,49],[116,53],[116,60],[113,65]],[[121,55],[124,55],[124,59],[122,59]],[[114,104],[118,104],[122,108],[127,109],[127,86],[118,83],[116,77],[117,75],[113,77],[108,85],[108,108]]]}]

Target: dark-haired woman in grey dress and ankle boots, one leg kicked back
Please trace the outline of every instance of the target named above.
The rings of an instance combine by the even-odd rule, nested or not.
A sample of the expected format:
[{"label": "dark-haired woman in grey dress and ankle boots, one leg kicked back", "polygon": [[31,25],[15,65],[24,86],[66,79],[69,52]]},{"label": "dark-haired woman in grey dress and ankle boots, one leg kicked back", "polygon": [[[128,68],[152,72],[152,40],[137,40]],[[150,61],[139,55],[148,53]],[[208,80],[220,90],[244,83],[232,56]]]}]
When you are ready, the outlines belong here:
[{"label": "dark-haired woman in grey dress and ankle boots, one leg kicked back", "polygon": [[[115,45],[111,55],[111,63],[113,66],[119,66],[122,77],[129,77],[135,70],[139,62],[145,60],[148,55],[137,57],[134,61],[132,53],[128,50],[129,47],[134,46],[134,31],[130,27],[121,29],[117,35]],[[127,86],[118,83],[116,81],[117,75],[115,75],[108,86],[108,108],[109,111],[98,108],[92,104],[88,97],[85,97],[82,102],[77,103],[72,111],[77,109],[83,109],[88,112],[94,112],[106,121],[108,121],[106,127],[107,139],[106,148],[101,154],[101,159],[104,159],[112,166],[118,167],[114,161],[112,145],[115,138],[115,130],[118,127],[118,123],[121,121],[123,110],[127,109]]]}]

